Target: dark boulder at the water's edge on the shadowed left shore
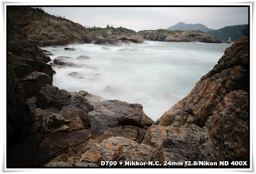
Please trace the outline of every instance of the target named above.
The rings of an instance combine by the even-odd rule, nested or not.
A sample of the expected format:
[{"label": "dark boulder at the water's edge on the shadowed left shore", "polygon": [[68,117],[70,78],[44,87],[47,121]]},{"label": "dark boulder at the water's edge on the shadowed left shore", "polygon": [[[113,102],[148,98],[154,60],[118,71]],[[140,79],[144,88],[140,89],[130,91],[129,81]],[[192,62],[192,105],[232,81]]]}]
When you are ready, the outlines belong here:
[{"label": "dark boulder at the water's edge on the shadowed left shore", "polygon": [[45,84],[52,84],[52,78],[44,72],[32,72],[20,79],[26,98],[33,97]]}]

